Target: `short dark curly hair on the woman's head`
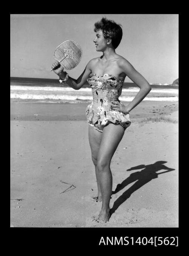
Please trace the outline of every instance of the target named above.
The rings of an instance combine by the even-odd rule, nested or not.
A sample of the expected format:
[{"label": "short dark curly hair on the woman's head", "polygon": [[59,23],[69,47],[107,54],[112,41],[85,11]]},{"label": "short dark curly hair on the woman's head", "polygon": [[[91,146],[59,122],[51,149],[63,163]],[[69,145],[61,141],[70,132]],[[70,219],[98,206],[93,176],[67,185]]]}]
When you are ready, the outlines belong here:
[{"label": "short dark curly hair on the woman's head", "polygon": [[116,49],[122,39],[122,28],[120,24],[116,24],[113,20],[103,17],[95,23],[94,31],[102,30],[104,38],[112,39],[112,46]]}]

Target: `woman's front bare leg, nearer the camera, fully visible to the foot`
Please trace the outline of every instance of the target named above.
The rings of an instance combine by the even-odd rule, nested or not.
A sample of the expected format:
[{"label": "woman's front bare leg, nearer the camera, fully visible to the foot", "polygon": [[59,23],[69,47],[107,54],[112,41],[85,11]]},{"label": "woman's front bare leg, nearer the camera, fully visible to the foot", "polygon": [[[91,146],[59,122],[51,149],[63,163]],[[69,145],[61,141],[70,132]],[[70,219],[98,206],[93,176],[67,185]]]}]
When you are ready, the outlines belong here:
[{"label": "woman's front bare leg, nearer the camera, fully visible to the foot", "polygon": [[119,142],[124,135],[124,128],[120,125],[108,124],[102,132],[101,144],[97,157],[97,168],[102,192],[102,209],[99,220],[108,221],[110,218],[110,198],[112,194],[112,173],[110,162]]}]

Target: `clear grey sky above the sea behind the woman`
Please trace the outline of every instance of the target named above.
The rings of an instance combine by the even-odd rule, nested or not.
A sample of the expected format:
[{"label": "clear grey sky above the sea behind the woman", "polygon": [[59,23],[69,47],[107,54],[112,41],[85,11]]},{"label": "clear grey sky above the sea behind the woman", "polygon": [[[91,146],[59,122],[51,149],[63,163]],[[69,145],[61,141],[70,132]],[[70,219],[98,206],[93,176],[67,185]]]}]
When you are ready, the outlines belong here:
[{"label": "clear grey sky above the sea behind the woman", "polygon": [[56,79],[50,72],[54,50],[74,40],[83,54],[68,73],[77,79],[88,61],[101,56],[93,42],[94,24],[104,16],[122,25],[116,53],[149,83],[172,84],[178,78],[178,14],[11,14],[11,77]]}]

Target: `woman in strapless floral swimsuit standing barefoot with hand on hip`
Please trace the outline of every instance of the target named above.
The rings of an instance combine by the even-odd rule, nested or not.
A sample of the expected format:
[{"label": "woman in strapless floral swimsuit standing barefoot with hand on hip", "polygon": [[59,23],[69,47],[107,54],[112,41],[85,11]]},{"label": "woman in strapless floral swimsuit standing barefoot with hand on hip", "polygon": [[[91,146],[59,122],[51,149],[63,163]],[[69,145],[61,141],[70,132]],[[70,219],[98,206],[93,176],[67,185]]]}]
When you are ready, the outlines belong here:
[{"label": "woman in strapless floral swimsuit standing barefoot with hand on hip", "polygon": [[[93,42],[96,51],[102,52],[103,55],[90,60],[77,80],[69,77],[57,61],[52,64],[52,68],[59,75],[60,83],[66,82],[75,90],[79,90],[88,81],[92,88],[93,101],[87,106],[86,117],[98,185],[96,200],[102,201],[98,220],[106,222],[110,218],[109,204],[112,194],[110,162],[125,129],[130,126],[129,112],[144,99],[151,87],[129,61],[115,52],[122,39],[120,25],[102,18],[100,22],[95,23],[94,31],[96,36]],[[127,106],[118,99],[126,76],[140,88]]]}]

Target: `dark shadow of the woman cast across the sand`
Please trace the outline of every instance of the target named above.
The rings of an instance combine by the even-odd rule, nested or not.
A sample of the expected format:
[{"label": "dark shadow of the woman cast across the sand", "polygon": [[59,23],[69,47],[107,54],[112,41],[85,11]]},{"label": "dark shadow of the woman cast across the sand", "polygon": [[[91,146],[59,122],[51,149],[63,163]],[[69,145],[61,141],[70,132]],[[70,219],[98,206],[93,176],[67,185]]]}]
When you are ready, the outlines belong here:
[{"label": "dark shadow of the woman cast across the sand", "polygon": [[[127,171],[132,171],[132,170],[138,170],[143,168],[143,170],[141,171],[136,171],[135,173],[130,174],[130,176],[127,179],[125,179],[121,184],[117,185],[115,191],[112,191],[112,195],[116,194],[117,192],[122,190],[124,187],[126,187],[130,183],[136,181],[135,184],[133,184],[129,189],[127,189],[124,193],[122,193],[122,195],[119,196],[118,199],[116,199],[112,209],[110,209],[110,215],[112,215],[118,209],[118,207],[122,203],[124,203],[127,200],[127,198],[129,198],[130,195],[133,192],[135,192],[137,189],[141,188],[149,181],[152,181],[152,179],[158,178],[159,174],[167,173],[169,171],[175,170],[172,168],[168,168],[167,166],[164,165],[164,163],[167,163],[167,162],[158,161],[151,165],[138,165],[128,169]],[[157,171],[160,171],[160,170],[166,170],[166,171],[157,173]]]}]

